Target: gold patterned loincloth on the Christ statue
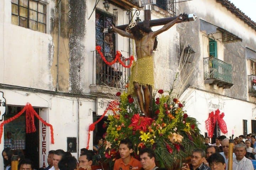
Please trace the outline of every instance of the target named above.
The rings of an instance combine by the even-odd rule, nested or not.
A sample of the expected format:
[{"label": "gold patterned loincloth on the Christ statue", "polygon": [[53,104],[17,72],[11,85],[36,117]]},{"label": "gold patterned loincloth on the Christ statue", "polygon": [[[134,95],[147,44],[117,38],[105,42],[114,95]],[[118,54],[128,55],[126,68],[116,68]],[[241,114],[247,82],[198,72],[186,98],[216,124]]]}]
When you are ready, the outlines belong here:
[{"label": "gold patterned loincloth on the Christ statue", "polygon": [[154,86],[154,60],[152,56],[139,58],[131,67],[128,94],[134,95],[134,84]]}]

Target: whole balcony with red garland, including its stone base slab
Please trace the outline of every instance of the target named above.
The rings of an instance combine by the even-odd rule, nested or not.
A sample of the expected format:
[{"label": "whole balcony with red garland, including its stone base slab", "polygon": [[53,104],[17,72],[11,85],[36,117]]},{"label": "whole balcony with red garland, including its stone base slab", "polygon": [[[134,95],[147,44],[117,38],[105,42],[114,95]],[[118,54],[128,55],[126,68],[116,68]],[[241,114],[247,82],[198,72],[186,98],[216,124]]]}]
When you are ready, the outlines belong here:
[{"label": "whole balcony with red garland, including its stone base slab", "polygon": [[[104,54],[104,52],[103,52]],[[119,62],[115,63],[115,68],[119,71],[114,71],[111,66],[108,66],[101,58],[97,51],[92,51],[93,55],[93,70],[92,84],[90,90],[92,93],[116,94],[117,91],[125,90],[129,81],[130,68],[124,68]],[[105,52],[105,57],[108,62],[114,60],[115,55]],[[129,65],[129,60],[123,63]]]}]

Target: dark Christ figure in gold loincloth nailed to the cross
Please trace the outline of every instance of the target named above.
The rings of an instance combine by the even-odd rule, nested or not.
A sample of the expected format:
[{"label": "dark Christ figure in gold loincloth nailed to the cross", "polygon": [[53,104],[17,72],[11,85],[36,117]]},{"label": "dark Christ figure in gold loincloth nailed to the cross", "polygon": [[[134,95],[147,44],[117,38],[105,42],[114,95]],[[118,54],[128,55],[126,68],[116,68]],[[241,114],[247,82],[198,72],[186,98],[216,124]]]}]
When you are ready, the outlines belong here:
[{"label": "dark Christ figure in gold loincloth nailed to the cross", "polygon": [[[150,4],[147,5],[150,6]],[[149,9],[148,7],[145,8],[145,20],[143,23],[130,23],[126,26],[125,31],[118,28],[122,26],[114,27],[113,24],[111,25],[112,28],[108,29],[135,41],[137,61],[133,62],[131,67],[128,94],[137,96],[140,110],[146,117],[149,117],[150,114],[151,96],[149,89],[154,85],[154,60],[152,54],[157,46],[156,36],[170,29],[176,23],[186,21],[188,18],[184,14],[175,18],[172,17],[172,21],[167,22],[159,30],[152,31],[150,29],[152,20],[150,21]],[[159,19],[159,22],[161,23],[162,20]],[[159,22],[156,21],[157,24]]]}]

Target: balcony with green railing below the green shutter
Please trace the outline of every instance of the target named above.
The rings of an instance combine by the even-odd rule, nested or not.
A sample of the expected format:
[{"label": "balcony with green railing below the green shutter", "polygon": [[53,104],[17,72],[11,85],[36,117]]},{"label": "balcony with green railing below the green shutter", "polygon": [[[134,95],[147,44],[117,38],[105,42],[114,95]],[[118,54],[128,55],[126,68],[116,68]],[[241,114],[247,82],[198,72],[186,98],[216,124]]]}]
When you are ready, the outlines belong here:
[{"label": "balcony with green railing below the green shutter", "polygon": [[232,83],[232,65],[215,57],[203,59],[204,83],[230,89]]}]

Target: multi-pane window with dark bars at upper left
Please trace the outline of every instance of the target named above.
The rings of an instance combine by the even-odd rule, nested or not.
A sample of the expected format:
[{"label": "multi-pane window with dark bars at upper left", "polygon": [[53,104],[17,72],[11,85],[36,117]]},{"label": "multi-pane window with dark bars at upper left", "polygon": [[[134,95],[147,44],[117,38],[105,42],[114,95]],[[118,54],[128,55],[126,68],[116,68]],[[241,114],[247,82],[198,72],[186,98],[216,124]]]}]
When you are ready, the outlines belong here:
[{"label": "multi-pane window with dark bars at upper left", "polygon": [[46,33],[46,5],[33,0],[11,0],[11,23]]}]

